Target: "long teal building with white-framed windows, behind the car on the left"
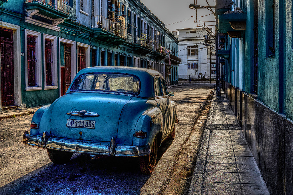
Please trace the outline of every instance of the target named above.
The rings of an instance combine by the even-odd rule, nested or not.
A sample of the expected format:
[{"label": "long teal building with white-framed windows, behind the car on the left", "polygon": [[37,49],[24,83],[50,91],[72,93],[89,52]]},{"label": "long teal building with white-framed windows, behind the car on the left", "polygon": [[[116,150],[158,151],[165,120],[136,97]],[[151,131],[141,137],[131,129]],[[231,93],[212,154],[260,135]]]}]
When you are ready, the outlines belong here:
[{"label": "long teal building with white-framed windows, behind the car on the left", "polygon": [[178,57],[178,39],[139,0],[8,0],[0,9],[0,110],[50,104],[86,67],[142,67],[166,77],[166,59]]}]

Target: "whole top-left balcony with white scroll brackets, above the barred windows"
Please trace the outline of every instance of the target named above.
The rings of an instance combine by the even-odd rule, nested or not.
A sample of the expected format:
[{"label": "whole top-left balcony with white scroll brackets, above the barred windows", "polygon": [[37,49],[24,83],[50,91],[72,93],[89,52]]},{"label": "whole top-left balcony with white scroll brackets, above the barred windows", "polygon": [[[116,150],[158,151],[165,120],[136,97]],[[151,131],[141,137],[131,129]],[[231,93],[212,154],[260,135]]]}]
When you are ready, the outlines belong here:
[{"label": "whole top-left balcony with white scroll brackets, above the barred windows", "polygon": [[28,16],[33,14],[50,19],[64,19],[69,16],[69,0],[25,0]]}]

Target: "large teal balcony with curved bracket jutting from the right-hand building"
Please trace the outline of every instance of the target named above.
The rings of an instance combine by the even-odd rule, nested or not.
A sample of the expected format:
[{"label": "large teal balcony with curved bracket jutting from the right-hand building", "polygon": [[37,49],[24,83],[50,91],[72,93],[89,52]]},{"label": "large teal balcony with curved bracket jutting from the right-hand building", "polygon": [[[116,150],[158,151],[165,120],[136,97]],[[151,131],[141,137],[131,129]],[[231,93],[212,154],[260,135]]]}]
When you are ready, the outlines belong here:
[{"label": "large teal balcony with curved bracket jutting from the right-hand building", "polygon": [[227,11],[219,15],[219,32],[231,38],[243,38],[246,30],[246,13],[241,10]]}]

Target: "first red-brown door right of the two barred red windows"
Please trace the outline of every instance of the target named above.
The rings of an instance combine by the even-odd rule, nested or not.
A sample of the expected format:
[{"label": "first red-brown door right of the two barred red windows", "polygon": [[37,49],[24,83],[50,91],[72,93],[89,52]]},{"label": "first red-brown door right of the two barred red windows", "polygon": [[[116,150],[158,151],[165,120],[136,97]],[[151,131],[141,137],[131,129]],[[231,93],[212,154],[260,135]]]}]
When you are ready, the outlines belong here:
[{"label": "first red-brown door right of the two barred red windows", "polygon": [[64,68],[61,68],[61,96],[63,96],[71,84],[71,45],[64,43]]}]

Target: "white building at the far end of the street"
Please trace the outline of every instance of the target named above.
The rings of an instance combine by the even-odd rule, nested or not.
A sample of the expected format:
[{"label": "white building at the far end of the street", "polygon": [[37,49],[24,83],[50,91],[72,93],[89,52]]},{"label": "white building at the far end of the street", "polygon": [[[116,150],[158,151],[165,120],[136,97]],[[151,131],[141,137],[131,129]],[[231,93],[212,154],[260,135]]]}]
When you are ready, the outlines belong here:
[{"label": "white building at the far end of the street", "polygon": [[[215,78],[215,36],[211,28],[184,28],[179,31],[179,79]],[[211,59],[211,60],[210,60]]]}]

